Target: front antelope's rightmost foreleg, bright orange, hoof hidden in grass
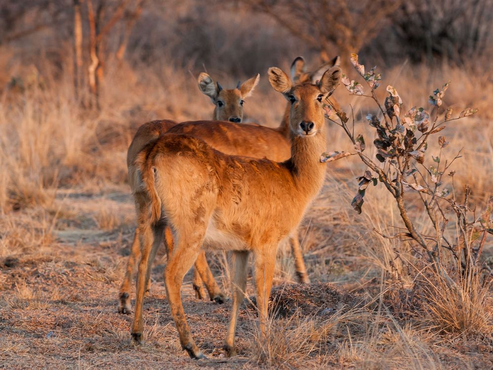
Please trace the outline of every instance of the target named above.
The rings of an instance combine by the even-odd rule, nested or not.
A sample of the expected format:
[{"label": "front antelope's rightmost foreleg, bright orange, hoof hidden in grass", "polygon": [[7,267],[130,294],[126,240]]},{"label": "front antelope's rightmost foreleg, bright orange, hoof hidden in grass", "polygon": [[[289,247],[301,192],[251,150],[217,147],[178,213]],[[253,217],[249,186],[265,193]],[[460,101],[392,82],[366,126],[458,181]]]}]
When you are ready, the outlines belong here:
[{"label": "front antelope's rightmost foreleg, bright orange, hoof hidden in grass", "polygon": [[271,295],[272,279],[276,262],[276,247],[265,246],[254,254],[255,290],[257,292],[257,307],[260,333],[265,335],[265,328],[269,320],[268,304]]}]

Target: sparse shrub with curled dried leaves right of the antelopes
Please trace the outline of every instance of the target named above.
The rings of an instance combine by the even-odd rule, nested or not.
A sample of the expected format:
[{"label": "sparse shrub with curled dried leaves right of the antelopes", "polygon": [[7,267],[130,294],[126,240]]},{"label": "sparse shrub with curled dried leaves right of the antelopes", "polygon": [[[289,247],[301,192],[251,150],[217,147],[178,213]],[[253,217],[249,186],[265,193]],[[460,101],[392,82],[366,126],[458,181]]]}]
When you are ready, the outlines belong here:
[{"label": "sparse shrub with curled dried leaves right of the antelopes", "polygon": [[[404,227],[400,227],[402,231],[393,235],[384,235],[376,229],[373,231],[385,238],[409,243],[420,263],[425,264],[426,273],[434,274],[434,282],[445,284],[448,292],[471,298],[477,296],[478,289],[489,289],[493,276],[492,268],[481,259],[487,236],[493,234],[493,198],[489,200],[480,217],[476,216],[475,209],[470,205],[471,191],[468,186],[465,187],[462,201],[458,200],[453,187],[455,172],[451,171],[450,167],[461,157],[461,149],[453,159],[445,159],[442,149],[449,143],[445,136],[439,136],[438,140],[434,140],[434,137],[445,129],[449,122],[470,116],[478,109],[467,108],[457,117],[452,116],[451,108],[443,109],[443,97],[449,82],[429,96],[429,110],[425,107],[413,107],[407,112],[403,111],[404,103],[395,87],[390,85],[387,86],[388,95],[385,102],[381,104],[375,89],[379,87],[382,75],[376,73],[376,67],[365,73],[365,67],[359,64],[356,54],[352,54],[351,63],[367,87],[364,88],[363,83],[350,81],[347,77],[343,78],[342,82],[353,95],[370,98],[376,104],[378,116],[369,113],[366,121],[375,129],[376,138],[373,145],[377,152],[375,157],[366,154],[368,151],[365,153],[367,146],[363,135],[354,134],[354,116],[350,129],[348,115],[333,105],[328,105],[325,111],[335,111],[340,122],[326,117],[343,128],[352,141],[355,152],[322,153],[321,161],[328,162],[348,155],[357,155],[367,169],[357,178],[358,190],[351,203],[353,209],[360,214],[368,185],[377,186],[379,182],[382,183],[394,199]],[[428,146],[436,145],[435,143],[438,144],[438,155],[432,156],[433,164],[428,166],[425,161]],[[452,180],[450,188],[446,187],[445,174]],[[431,235],[425,226],[418,226],[416,215],[408,211],[410,197],[405,197],[406,193],[414,193],[423,204],[428,224],[434,230]],[[455,225],[449,224],[451,214],[455,218]],[[429,278],[425,280],[431,281]],[[427,291],[435,292],[436,289]],[[482,299],[478,304],[486,305],[487,301]],[[478,312],[480,311],[484,313],[484,310]],[[489,319],[491,320],[491,317]],[[475,321],[471,318],[470,322]],[[466,328],[467,325],[458,327]],[[464,329],[462,332],[468,331]]]}]

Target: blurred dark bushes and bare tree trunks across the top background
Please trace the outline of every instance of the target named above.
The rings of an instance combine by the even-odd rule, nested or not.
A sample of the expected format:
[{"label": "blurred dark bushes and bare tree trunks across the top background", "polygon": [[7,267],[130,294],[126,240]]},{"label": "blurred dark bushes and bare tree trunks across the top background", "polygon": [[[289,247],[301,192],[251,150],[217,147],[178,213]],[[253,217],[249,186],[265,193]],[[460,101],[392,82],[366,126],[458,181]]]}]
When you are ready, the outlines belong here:
[{"label": "blurred dark bushes and bare tree trunks across the top background", "polygon": [[94,84],[122,63],[242,76],[352,52],[387,68],[486,70],[492,18],[489,0],[2,0],[0,86],[23,88],[22,68],[42,76],[46,64],[50,77],[68,72],[99,93]]}]

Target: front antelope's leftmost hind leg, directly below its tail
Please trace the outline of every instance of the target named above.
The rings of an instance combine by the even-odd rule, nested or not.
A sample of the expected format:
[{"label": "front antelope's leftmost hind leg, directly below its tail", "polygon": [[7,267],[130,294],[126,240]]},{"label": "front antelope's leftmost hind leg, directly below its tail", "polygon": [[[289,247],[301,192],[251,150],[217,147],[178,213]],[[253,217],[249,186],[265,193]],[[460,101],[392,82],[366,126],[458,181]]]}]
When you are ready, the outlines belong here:
[{"label": "front antelope's leftmost hind leg, directly below its tail", "polygon": [[132,338],[141,343],[143,331],[143,298],[145,294],[145,289],[149,282],[152,261],[154,260],[154,257],[156,256],[156,251],[163,240],[163,231],[165,224],[158,223],[156,225],[150,225],[148,222],[146,222],[141,223],[139,227],[141,236],[141,260],[139,262],[139,273],[137,275],[135,316],[131,331]]}]

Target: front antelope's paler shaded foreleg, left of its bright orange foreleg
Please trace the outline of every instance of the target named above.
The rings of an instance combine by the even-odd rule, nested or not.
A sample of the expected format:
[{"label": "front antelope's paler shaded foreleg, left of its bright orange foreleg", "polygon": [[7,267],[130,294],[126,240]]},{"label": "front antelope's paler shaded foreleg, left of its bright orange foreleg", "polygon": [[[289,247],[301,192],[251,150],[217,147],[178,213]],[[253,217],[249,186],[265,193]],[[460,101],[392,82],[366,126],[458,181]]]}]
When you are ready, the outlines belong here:
[{"label": "front antelope's paler shaded foreleg, left of its bright orange foreleg", "polygon": [[238,320],[238,312],[240,304],[245,298],[246,277],[248,273],[248,252],[233,252],[232,256],[233,268],[233,306],[231,308],[231,319],[229,322],[228,333],[224,341],[224,349],[228,357],[236,356],[235,349],[235,334],[236,323]]}]

